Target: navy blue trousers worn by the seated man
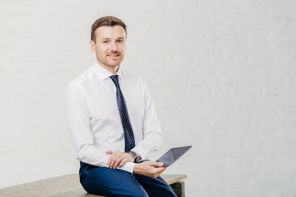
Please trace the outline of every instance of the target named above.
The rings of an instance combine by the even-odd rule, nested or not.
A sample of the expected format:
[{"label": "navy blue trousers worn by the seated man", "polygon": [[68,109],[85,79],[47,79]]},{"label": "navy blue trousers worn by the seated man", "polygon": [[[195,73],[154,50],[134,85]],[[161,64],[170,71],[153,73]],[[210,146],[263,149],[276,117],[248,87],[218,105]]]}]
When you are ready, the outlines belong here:
[{"label": "navy blue trousers worn by the seated man", "polygon": [[177,197],[160,176],[151,178],[80,162],[79,177],[82,187],[90,194],[107,197]]}]

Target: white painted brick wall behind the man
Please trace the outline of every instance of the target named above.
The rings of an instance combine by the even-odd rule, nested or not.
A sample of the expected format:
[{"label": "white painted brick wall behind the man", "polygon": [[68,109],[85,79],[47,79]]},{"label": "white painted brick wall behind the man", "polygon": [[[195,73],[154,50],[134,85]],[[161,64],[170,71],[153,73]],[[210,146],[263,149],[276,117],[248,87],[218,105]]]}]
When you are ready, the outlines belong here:
[{"label": "white painted brick wall behind the man", "polygon": [[65,88],[113,15],[162,126],[151,159],[193,145],[165,171],[188,175],[186,197],[296,195],[295,1],[9,0],[0,15],[0,188],[78,172]]}]

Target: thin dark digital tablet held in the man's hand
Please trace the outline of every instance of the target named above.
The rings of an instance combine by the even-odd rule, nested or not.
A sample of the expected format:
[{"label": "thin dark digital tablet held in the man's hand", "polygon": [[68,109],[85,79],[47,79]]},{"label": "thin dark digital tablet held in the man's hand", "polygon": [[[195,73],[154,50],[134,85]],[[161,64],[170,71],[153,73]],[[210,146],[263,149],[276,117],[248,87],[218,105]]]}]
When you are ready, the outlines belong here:
[{"label": "thin dark digital tablet held in the man's hand", "polygon": [[162,162],[163,166],[169,166],[174,164],[182,155],[184,155],[192,146],[182,146],[171,148],[163,156],[161,156],[156,162]]}]

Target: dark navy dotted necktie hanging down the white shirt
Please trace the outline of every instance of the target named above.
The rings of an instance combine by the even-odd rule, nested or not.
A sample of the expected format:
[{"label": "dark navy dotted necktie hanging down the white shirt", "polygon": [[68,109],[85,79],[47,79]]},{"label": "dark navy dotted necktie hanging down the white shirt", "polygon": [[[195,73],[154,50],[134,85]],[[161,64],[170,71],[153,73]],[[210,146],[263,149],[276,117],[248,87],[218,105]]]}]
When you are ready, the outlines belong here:
[{"label": "dark navy dotted necktie hanging down the white shirt", "polygon": [[128,116],[124,97],[119,87],[118,75],[117,74],[112,75],[110,76],[110,78],[112,79],[116,87],[116,100],[117,100],[117,105],[118,105],[118,110],[119,110],[123,131],[124,131],[125,152],[128,152],[135,147],[134,131]]}]

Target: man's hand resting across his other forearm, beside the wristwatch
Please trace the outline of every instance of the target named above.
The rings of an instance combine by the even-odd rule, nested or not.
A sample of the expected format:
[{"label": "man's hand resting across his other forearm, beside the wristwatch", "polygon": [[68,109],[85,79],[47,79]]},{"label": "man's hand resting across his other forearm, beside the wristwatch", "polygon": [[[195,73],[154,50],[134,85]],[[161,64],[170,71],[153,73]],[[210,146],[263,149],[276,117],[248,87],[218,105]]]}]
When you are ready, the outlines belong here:
[{"label": "man's hand resting across his other forearm, beside the wristwatch", "polygon": [[135,158],[130,153],[124,153],[121,151],[106,151],[106,154],[111,154],[108,162],[107,167],[116,169],[116,167],[121,167],[123,164],[127,162],[134,162]]}]

